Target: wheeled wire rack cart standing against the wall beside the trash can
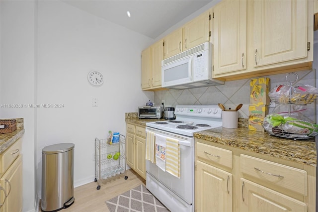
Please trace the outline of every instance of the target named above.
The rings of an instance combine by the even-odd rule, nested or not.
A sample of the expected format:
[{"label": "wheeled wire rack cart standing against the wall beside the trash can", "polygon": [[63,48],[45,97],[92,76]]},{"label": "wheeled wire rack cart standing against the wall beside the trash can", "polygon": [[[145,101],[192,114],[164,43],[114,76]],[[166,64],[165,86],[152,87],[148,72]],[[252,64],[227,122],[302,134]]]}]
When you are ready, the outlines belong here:
[{"label": "wheeled wire rack cart standing against the wall beside the trash can", "polygon": [[126,173],[125,141],[126,137],[119,135],[119,142],[109,144],[106,139],[95,138],[95,182],[97,190],[107,179],[124,175]]}]

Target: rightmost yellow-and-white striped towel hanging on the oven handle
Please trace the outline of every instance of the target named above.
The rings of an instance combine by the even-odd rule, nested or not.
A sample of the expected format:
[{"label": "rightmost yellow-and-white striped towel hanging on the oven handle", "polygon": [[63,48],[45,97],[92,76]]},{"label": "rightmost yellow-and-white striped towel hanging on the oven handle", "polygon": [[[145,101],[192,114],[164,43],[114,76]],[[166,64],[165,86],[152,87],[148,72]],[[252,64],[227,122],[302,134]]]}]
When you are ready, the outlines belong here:
[{"label": "rightmost yellow-and-white striped towel hanging on the oven handle", "polygon": [[165,171],[180,179],[180,147],[177,139],[166,138]]}]

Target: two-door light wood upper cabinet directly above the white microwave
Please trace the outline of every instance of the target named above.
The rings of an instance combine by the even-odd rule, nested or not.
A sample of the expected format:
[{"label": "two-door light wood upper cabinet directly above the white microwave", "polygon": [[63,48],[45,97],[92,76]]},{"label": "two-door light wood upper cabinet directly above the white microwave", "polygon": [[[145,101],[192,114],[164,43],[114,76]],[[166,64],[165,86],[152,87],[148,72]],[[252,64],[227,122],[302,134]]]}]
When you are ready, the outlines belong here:
[{"label": "two-door light wood upper cabinet directly above the white microwave", "polygon": [[164,58],[210,41],[210,10],[164,37]]}]

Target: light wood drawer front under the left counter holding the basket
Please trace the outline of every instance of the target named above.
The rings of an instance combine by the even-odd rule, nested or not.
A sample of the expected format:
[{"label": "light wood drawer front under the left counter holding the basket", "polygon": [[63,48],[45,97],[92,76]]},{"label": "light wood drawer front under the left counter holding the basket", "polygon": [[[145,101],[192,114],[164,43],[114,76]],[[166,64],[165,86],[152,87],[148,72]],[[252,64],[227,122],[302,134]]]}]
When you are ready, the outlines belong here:
[{"label": "light wood drawer front under the left counter holding the basket", "polygon": [[0,155],[0,173],[2,174],[9,168],[14,160],[20,155],[21,138],[15,141],[5,152]]}]

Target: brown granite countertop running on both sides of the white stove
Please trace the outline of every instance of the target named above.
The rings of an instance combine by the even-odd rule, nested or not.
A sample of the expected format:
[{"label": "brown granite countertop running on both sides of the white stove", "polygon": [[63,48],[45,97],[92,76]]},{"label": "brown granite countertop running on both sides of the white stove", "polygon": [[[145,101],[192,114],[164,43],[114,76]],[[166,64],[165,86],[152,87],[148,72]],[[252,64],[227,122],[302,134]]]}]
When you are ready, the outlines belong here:
[{"label": "brown granite countertop running on both sides of the white stove", "polygon": [[[126,123],[146,126],[149,121],[160,119],[139,119],[137,113],[126,113]],[[239,128],[230,129],[217,127],[194,133],[195,138],[214,143],[232,146],[235,148],[282,158],[297,163],[317,166],[317,150],[315,138],[305,140],[293,140],[248,130],[245,124],[239,124]]]}]

